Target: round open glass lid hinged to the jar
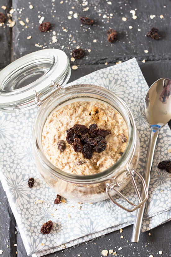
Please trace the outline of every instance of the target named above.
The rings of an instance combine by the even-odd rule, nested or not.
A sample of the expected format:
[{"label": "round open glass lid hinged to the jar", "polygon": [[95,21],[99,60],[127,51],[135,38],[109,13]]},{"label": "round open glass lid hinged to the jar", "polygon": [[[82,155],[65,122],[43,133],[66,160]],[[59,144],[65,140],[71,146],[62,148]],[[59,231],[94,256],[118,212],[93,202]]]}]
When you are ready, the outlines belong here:
[{"label": "round open glass lid hinged to the jar", "polygon": [[25,55],[0,72],[0,110],[16,112],[36,105],[35,94],[43,98],[55,88],[51,80],[65,85],[71,74],[67,55],[59,49],[44,49]]}]

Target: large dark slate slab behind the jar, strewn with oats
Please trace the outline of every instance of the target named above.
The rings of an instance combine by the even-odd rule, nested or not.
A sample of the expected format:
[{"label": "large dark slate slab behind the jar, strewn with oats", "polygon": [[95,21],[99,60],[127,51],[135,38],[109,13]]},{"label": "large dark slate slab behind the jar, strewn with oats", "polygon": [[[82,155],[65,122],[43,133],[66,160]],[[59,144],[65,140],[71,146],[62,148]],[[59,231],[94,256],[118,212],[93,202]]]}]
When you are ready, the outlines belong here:
[{"label": "large dark slate slab behind the jar, strewn with oats", "polygon": [[[115,63],[117,60],[123,61],[132,57],[136,57],[137,60],[170,60],[171,2],[169,0],[112,1],[111,5],[106,1],[90,0],[86,6],[83,6],[81,1],[62,1],[60,4],[60,0],[54,2],[35,0],[32,2],[34,8],[30,10],[27,1],[13,0],[13,7],[18,9],[13,15],[16,19],[16,26],[13,28],[14,59],[44,47],[63,49],[71,57],[72,50],[79,46],[86,53],[83,59],[75,61],[76,64]],[[83,11],[87,7],[89,9]],[[21,9],[22,11],[19,11]],[[134,9],[136,9],[136,20],[130,13],[130,10]],[[70,15],[70,11],[73,11],[73,14]],[[75,13],[78,14],[78,18],[73,17]],[[52,24],[49,33],[39,32],[39,15],[45,17],[44,21]],[[155,18],[151,19],[150,15],[155,15]],[[161,19],[160,15],[164,18]],[[68,20],[68,16],[72,16],[72,19]],[[94,19],[95,24],[90,27],[81,26],[79,21],[81,16]],[[109,18],[103,18],[106,16]],[[127,21],[122,21],[122,17],[126,17]],[[29,23],[25,22],[26,18],[29,19]],[[28,28],[21,26],[19,21],[24,21]],[[129,29],[129,26],[133,28]],[[145,37],[147,31],[154,26],[159,29],[160,40]],[[106,36],[109,28],[118,32],[118,40],[112,44],[108,43]],[[52,43],[53,31],[56,32],[57,43]],[[27,39],[28,36],[32,36],[30,40]],[[94,43],[93,40],[97,42]],[[36,47],[35,44],[42,47]],[[90,53],[88,49],[91,50]],[[144,50],[149,52],[145,53]]]}]

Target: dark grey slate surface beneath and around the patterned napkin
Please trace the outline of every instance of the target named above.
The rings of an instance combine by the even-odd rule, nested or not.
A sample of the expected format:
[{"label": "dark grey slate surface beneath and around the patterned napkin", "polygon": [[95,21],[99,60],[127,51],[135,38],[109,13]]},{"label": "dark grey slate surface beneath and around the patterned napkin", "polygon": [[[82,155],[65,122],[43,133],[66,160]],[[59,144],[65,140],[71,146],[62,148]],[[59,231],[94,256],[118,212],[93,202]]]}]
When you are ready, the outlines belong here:
[{"label": "dark grey slate surface beneath and around the patterned napkin", "polygon": [[[73,64],[80,66],[77,70],[72,70],[69,82],[95,70],[113,65],[118,60],[124,61],[132,57],[136,57],[139,61],[140,68],[149,86],[161,77],[171,78],[171,2],[169,0],[110,1],[112,5],[107,4],[107,1],[89,0],[87,6],[82,6],[83,2],[81,0],[67,0],[67,2],[64,0],[62,4],[60,4],[61,0],[55,0],[54,2],[51,0],[34,0],[31,2],[34,8],[30,9],[29,2],[25,0],[12,0],[12,4],[10,0],[0,0],[0,10],[2,5],[8,5],[6,11],[2,9],[0,12],[9,12],[11,6],[16,9],[13,13],[13,20],[16,21],[16,25],[12,28],[12,59],[18,59],[30,52],[43,49],[43,47],[62,49],[63,45],[63,50],[71,58],[72,50],[76,46],[80,46],[86,52],[85,57],[71,63],[71,66]],[[89,10],[83,11],[86,7],[89,7]],[[129,11],[135,8],[137,9],[137,19],[133,20]],[[69,11],[78,13],[78,18],[76,19],[72,15],[72,19],[68,20]],[[99,16],[99,13],[101,16]],[[110,17],[108,16],[110,13],[113,14],[112,18],[103,18],[104,14]],[[163,19],[159,18],[161,14],[164,16]],[[51,31],[48,33],[38,31],[40,19],[38,15],[44,16],[44,21],[49,21],[52,24]],[[156,17],[150,19],[150,15],[156,15]],[[81,26],[79,21],[81,16],[94,19],[94,26],[90,28],[85,25]],[[122,21],[122,17],[127,17],[127,21]],[[26,18],[29,19],[29,23],[25,22]],[[107,22],[108,20],[109,22]],[[24,21],[28,28],[21,26],[19,21]],[[129,29],[129,26],[133,28]],[[145,37],[146,32],[153,26],[159,29],[161,39],[158,41]],[[62,27],[67,29],[68,32],[63,31]],[[118,32],[118,40],[113,44],[109,44],[107,41],[106,31],[109,28],[116,29]],[[141,31],[138,31],[138,28]],[[58,42],[50,44],[53,31],[56,31]],[[8,45],[11,39],[10,33],[11,29],[7,26],[5,29],[0,27],[0,68],[5,67],[10,62],[11,46]],[[72,37],[69,37],[69,35],[72,35]],[[32,36],[30,40],[27,39],[28,36]],[[96,43],[93,43],[94,39],[97,40]],[[73,42],[74,40],[76,43]],[[42,47],[38,48],[35,44],[42,45]],[[91,50],[90,53],[88,49]],[[145,53],[144,50],[149,52]],[[146,59],[146,63],[141,62],[143,59]],[[106,62],[107,65],[105,65]],[[169,124],[171,127],[171,121]],[[0,195],[0,249],[3,250],[2,256],[26,257],[27,254],[20,233],[15,234],[17,224],[15,224],[7,196],[1,185]],[[122,250],[117,253],[118,257],[148,257],[150,255],[155,257],[159,256],[157,254],[159,250],[163,252],[161,256],[171,256],[171,221],[152,229],[150,236],[149,231],[141,234],[139,244],[131,243],[132,228],[133,226],[124,228],[122,234],[119,231],[109,233],[104,238],[97,240],[96,245],[93,245],[94,242],[89,242],[87,245],[78,248],[61,250],[46,256],[75,257],[80,254],[80,256],[98,257],[101,256],[102,250],[115,249],[115,246],[122,247]],[[124,236],[123,239],[120,239],[121,235]],[[14,246],[15,243],[17,247]],[[9,248],[7,248],[7,245],[9,245]]]}]

